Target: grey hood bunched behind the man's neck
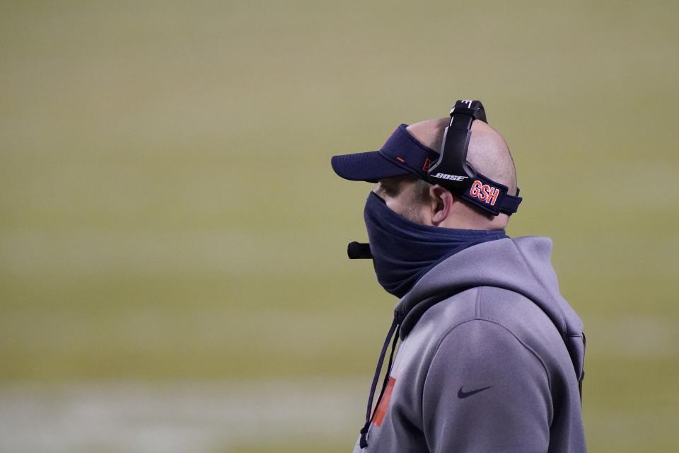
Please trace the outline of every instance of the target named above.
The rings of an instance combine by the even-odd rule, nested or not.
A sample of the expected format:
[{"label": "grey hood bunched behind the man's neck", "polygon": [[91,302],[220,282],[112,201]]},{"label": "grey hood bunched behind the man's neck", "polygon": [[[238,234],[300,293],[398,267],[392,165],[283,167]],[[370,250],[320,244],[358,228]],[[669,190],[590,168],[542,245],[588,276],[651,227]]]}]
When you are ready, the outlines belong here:
[{"label": "grey hood bunched behind the man's neck", "polygon": [[[559,293],[552,266],[552,240],[540,236],[498,239],[466,248],[431,268],[396,304],[405,338],[426,309],[465,289],[491,286],[527,297],[552,320],[580,374],[582,321]],[[577,338],[577,340],[576,340]]]}]

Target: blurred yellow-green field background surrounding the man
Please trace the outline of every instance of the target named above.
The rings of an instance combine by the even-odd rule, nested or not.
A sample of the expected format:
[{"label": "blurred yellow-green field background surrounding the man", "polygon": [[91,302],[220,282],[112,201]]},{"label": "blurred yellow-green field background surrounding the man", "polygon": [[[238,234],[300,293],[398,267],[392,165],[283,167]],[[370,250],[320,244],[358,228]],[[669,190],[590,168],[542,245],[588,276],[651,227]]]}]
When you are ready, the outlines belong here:
[{"label": "blurred yellow-green field background surrounding the man", "polygon": [[678,14],[0,2],[0,451],[350,451],[396,300],[330,156],[458,98],[554,240],[591,451],[678,450]]}]

